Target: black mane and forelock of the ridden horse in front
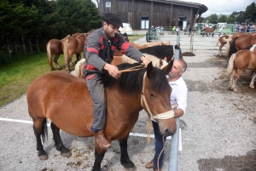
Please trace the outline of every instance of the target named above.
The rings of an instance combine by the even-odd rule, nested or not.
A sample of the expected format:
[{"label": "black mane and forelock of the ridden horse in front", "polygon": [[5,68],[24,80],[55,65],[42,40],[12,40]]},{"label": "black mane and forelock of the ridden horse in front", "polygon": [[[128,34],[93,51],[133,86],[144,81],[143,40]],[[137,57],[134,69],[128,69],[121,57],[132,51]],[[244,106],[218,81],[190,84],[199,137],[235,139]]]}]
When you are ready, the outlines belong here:
[{"label": "black mane and forelock of the ridden horse in front", "polygon": [[[123,63],[120,64],[118,68],[119,71],[122,71],[134,66],[141,65],[138,63]],[[113,85],[115,85],[115,83],[118,83],[119,88],[121,88],[127,95],[140,93],[143,90],[143,76],[145,71],[146,69],[143,68],[137,71],[123,72],[119,79],[113,78],[109,76],[108,73],[106,73],[103,77],[105,88],[112,87]],[[154,72],[150,76],[149,86],[151,88],[154,88],[154,91],[156,91],[158,94],[164,94],[166,92],[166,89],[170,88],[165,73],[156,67],[154,67]]]}]

